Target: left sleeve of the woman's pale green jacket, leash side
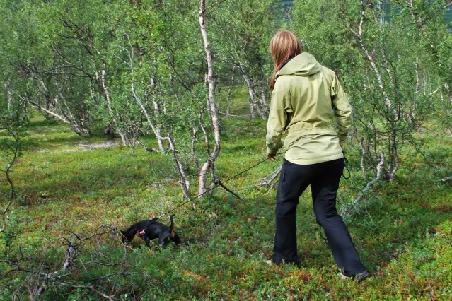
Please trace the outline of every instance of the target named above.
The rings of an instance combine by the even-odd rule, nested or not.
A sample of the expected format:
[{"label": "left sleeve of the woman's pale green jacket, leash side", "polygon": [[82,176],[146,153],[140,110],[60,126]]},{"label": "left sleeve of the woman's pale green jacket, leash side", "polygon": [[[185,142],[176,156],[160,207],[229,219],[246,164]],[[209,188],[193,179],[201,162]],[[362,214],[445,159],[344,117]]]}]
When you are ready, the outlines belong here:
[{"label": "left sleeve of the woman's pale green jacket, leash side", "polygon": [[270,112],[267,122],[267,155],[275,155],[282,148],[282,133],[286,126],[287,114],[290,105],[289,90],[273,90],[270,102]]}]

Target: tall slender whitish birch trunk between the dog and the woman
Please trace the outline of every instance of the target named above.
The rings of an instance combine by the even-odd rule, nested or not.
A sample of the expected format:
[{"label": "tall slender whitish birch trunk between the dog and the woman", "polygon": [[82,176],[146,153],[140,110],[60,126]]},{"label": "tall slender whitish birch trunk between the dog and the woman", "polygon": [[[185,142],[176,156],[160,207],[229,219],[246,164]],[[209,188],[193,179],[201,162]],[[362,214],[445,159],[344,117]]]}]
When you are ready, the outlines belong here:
[{"label": "tall slender whitish birch trunk between the dog and the woman", "polygon": [[204,43],[204,52],[206,52],[206,59],[207,59],[207,83],[209,83],[209,97],[208,97],[208,103],[209,103],[209,113],[211,116],[211,124],[212,124],[212,130],[214,131],[214,149],[209,154],[206,162],[201,167],[201,170],[199,170],[199,187],[198,187],[198,193],[204,194],[206,191],[206,175],[207,172],[213,167],[216,158],[218,157],[221,149],[221,143],[220,143],[220,123],[219,119],[216,115],[216,102],[215,102],[215,80],[214,80],[214,66],[211,56],[211,49],[209,45],[209,40],[207,39],[207,28],[205,25],[205,18],[204,14],[206,11],[206,1],[200,0],[199,1],[199,28],[201,30],[202,34],[202,40]]}]

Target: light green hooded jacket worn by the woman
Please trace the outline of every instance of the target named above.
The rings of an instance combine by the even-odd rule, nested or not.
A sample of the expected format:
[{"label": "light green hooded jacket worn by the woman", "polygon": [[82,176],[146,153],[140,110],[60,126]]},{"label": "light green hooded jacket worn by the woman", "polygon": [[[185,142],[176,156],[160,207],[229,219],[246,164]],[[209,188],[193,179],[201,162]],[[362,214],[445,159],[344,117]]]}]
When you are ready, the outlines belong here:
[{"label": "light green hooded jacket worn by the woman", "polygon": [[337,76],[312,54],[297,55],[277,72],[267,122],[267,154],[282,148],[284,134],[285,158],[291,163],[343,158],[339,141],[345,140],[351,124],[352,107]]}]

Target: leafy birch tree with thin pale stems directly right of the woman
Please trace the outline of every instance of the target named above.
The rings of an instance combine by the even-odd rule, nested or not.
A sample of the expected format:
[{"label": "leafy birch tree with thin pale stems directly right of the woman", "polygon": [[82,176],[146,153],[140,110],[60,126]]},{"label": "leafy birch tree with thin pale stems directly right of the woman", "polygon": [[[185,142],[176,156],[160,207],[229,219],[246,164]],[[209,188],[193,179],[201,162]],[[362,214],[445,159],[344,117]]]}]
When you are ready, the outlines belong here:
[{"label": "leafy birch tree with thin pale stems directly right of the woman", "polygon": [[[400,167],[399,148],[427,116],[433,94],[419,93],[429,83],[416,78],[426,53],[406,30],[407,16],[392,6],[386,22],[381,1],[296,1],[296,26],[308,51],[336,71],[354,106],[359,137],[364,136],[363,168],[376,172],[378,156],[386,153],[382,179],[393,181]],[[324,18],[328,16],[328,22]],[[423,66],[420,66],[421,68]],[[359,71],[358,71],[359,70]]]}]

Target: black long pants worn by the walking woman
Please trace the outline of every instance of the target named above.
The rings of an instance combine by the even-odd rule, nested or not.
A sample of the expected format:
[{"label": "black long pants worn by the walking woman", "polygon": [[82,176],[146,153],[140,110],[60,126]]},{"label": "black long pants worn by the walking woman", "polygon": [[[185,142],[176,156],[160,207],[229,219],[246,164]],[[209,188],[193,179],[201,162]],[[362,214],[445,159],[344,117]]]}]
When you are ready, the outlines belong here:
[{"label": "black long pants worn by the walking woman", "polygon": [[365,270],[347,227],[336,210],[336,194],[344,169],[344,159],[298,165],[284,159],[279,177],[276,206],[276,235],[272,261],[298,262],[296,250],[296,206],[311,184],[315,218],[325,235],[337,266],[346,276]]}]

